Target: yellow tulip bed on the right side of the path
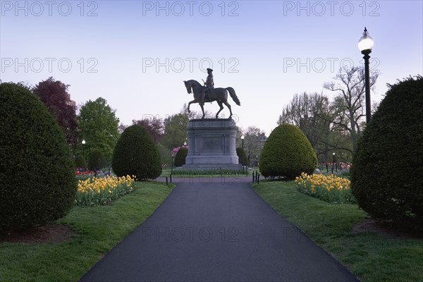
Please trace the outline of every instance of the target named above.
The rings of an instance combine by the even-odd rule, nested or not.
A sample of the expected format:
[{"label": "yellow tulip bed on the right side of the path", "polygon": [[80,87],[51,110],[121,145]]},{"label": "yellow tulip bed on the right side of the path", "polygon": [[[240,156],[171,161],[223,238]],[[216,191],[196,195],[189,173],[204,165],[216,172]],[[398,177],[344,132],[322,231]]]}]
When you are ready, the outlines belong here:
[{"label": "yellow tulip bed on the right side of the path", "polygon": [[307,175],[295,178],[295,188],[319,200],[333,204],[357,204],[350,190],[350,180],[337,176],[324,176],[323,174]]}]

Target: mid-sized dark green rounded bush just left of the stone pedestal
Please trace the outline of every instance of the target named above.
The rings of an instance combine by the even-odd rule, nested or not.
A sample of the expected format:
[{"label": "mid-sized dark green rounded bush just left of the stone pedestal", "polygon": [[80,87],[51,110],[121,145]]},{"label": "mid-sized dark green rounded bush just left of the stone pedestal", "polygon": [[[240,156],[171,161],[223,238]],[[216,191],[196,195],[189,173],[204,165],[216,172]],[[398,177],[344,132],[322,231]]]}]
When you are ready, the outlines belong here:
[{"label": "mid-sized dark green rounded bush just left of the stone pedestal", "polygon": [[159,151],[147,129],[135,124],[123,131],[116,143],[111,166],[117,176],[136,176],[139,180],[160,176]]}]

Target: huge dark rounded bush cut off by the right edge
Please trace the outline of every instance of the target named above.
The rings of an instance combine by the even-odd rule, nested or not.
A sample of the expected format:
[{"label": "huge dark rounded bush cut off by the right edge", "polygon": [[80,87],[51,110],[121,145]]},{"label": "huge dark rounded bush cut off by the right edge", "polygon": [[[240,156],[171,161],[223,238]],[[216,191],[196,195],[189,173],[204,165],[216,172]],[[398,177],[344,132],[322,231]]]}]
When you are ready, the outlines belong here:
[{"label": "huge dark rounded bush cut off by the right edge", "polygon": [[354,154],[351,189],[374,218],[423,230],[423,79],[389,86]]}]

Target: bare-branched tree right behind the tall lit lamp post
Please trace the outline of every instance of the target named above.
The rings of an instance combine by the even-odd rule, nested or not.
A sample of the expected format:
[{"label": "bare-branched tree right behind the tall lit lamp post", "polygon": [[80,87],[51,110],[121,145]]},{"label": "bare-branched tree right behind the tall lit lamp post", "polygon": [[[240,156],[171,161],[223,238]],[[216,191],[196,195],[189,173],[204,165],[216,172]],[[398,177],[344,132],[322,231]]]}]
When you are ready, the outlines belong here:
[{"label": "bare-branched tree right behind the tall lit lamp post", "polygon": [[[379,73],[370,74],[370,88],[374,89]],[[344,66],[335,77],[337,82],[326,82],[324,88],[338,93],[331,105],[333,118],[330,122],[336,130],[348,132],[353,142],[353,151],[364,126],[364,68]],[[324,117],[323,117],[324,118]],[[329,120],[328,120],[329,121]]]}]

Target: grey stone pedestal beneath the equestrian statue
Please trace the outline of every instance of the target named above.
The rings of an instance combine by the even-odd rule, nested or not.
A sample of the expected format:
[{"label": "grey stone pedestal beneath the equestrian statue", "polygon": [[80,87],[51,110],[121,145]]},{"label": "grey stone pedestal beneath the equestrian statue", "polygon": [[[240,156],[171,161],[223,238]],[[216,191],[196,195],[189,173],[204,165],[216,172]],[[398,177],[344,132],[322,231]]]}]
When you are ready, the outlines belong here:
[{"label": "grey stone pedestal beneath the equestrian statue", "polygon": [[188,156],[183,169],[240,169],[232,118],[192,119],[188,123]]}]

